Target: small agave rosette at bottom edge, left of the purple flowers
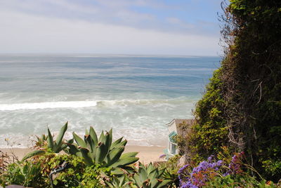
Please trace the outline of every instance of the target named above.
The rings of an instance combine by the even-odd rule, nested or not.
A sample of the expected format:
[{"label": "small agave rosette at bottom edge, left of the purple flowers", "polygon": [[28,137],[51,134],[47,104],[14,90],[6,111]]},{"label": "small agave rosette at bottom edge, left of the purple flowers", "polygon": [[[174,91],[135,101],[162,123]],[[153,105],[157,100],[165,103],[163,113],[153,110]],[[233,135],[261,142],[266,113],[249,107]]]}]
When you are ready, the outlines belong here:
[{"label": "small agave rosette at bottom edge, left of the purple flowers", "polygon": [[139,163],[138,173],[135,173],[131,180],[137,187],[143,188],[160,188],[167,187],[168,184],[171,184],[172,180],[164,180],[162,177],[165,169],[158,170],[155,168],[152,163],[148,166],[144,166],[142,163]]}]

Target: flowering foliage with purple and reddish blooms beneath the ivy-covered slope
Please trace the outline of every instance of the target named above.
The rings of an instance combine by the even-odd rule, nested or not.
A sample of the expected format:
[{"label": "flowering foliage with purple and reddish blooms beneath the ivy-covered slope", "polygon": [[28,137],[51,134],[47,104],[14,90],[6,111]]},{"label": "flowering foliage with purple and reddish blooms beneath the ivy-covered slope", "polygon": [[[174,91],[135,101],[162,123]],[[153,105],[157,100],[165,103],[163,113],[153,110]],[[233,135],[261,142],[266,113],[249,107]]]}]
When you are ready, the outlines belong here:
[{"label": "flowering foliage with purple and reddish blooms beneath the ivy-covered slope", "polygon": [[[181,188],[199,187],[280,187],[271,181],[256,180],[247,170],[254,170],[243,163],[244,153],[235,154],[231,160],[215,160],[209,156],[198,166],[186,164],[178,170]],[[228,162],[229,161],[229,162]]]}]

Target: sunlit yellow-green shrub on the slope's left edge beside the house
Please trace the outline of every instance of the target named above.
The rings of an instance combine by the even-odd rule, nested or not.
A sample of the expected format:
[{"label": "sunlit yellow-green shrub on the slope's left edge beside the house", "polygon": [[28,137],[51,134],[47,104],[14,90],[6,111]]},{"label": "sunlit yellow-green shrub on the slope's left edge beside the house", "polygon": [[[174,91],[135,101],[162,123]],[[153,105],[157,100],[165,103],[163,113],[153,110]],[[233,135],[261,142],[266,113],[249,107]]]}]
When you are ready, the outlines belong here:
[{"label": "sunlit yellow-green shrub on the slope's left edge beside the house", "polygon": [[221,74],[222,69],[214,72],[206,93],[197,102],[196,121],[189,133],[181,139],[185,140],[185,154],[193,163],[199,163],[211,154],[223,152],[222,147],[231,147],[224,116],[226,102],[223,100]]}]

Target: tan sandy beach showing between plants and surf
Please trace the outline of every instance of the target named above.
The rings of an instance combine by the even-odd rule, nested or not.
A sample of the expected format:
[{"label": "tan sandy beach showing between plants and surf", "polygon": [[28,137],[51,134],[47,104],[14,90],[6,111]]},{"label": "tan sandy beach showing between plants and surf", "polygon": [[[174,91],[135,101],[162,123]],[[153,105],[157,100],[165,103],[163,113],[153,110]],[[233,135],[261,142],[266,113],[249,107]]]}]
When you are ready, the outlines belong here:
[{"label": "tan sandy beach showing between plants and surf", "polygon": [[[140,158],[140,162],[142,163],[150,163],[154,161],[163,161],[163,159],[159,159],[159,156],[163,154],[164,147],[144,147],[144,146],[133,146],[128,145],[125,148],[126,152],[139,152],[138,157]],[[7,153],[7,154],[15,154],[15,156],[18,157],[18,159],[22,159],[25,154],[28,152],[31,152],[32,149],[29,148],[5,148],[0,149],[1,152]]]}]

